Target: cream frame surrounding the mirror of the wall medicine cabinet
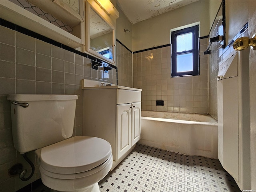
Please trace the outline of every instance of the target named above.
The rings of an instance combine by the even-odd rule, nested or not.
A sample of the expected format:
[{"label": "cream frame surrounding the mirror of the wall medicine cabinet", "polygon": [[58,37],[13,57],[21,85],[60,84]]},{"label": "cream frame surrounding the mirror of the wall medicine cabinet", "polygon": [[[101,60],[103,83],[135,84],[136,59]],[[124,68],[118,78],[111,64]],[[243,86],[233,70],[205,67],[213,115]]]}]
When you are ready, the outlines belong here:
[{"label": "cream frame surrounding the mirror of the wall medicine cabinet", "polygon": [[[113,60],[106,58],[102,54],[94,51],[90,47],[90,9],[92,9],[98,16],[106,22],[111,28],[112,28],[112,58]],[[115,25],[116,23],[113,22],[112,18],[94,1],[94,0],[88,0],[86,1],[86,52],[89,52],[90,54],[93,54],[96,56],[96,58],[100,58],[104,62],[115,64]]]}]

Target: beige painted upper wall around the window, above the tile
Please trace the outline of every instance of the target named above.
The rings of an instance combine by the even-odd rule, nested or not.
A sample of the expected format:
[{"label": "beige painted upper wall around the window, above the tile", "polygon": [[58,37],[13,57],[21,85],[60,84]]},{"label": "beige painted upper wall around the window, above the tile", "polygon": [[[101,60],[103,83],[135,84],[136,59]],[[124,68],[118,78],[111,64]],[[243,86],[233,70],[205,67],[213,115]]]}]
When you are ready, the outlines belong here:
[{"label": "beige painted upper wall around the window, above the tile", "polygon": [[200,22],[200,36],[209,33],[208,1],[198,1],[132,26],[132,51],[170,43],[170,30]]}]

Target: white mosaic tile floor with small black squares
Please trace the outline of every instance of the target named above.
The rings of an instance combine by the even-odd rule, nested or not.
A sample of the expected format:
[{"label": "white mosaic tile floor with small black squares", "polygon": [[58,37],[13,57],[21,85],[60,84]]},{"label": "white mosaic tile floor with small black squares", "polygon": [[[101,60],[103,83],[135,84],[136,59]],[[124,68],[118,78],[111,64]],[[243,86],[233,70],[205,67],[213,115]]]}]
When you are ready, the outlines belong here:
[{"label": "white mosaic tile floor with small black squares", "polygon": [[101,192],[241,192],[218,160],[140,144],[99,186]]}]

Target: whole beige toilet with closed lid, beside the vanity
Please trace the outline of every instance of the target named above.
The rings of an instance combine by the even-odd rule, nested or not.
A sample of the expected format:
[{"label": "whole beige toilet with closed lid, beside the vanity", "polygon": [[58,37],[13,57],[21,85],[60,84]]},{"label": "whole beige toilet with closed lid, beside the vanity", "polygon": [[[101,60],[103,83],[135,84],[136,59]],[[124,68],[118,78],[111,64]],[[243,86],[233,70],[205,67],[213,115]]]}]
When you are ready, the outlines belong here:
[{"label": "whole beige toilet with closed lid, beside the vanity", "polygon": [[77,95],[9,94],[14,147],[35,150],[41,179],[52,191],[99,192],[112,167],[110,144],[74,136]]}]

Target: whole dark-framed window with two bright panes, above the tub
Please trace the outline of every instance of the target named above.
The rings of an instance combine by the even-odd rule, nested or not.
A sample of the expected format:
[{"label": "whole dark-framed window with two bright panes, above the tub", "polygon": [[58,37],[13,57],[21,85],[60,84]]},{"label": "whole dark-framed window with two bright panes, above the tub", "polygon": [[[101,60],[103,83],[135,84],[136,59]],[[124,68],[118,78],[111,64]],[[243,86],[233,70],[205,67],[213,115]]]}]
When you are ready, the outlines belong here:
[{"label": "whole dark-framed window with two bright panes, above the tub", "polygon": [[171,77],[199,75],[198,25],[171,34]]}]

